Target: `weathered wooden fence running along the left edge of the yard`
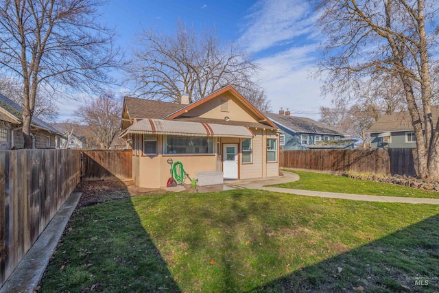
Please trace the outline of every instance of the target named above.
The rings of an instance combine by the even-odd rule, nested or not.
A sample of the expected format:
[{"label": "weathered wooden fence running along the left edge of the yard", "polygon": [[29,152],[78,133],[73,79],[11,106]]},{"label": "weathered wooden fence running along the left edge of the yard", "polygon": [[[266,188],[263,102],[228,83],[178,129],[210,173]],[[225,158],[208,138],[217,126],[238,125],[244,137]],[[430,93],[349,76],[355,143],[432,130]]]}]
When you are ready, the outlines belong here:
[{"label": "weathered wooden fence running along the left edge of the yard", "polygon": [[80,182],[80,150],[0,151],[0,286]]}]

